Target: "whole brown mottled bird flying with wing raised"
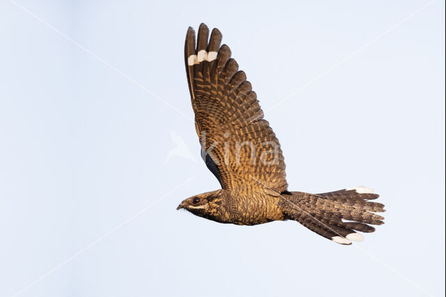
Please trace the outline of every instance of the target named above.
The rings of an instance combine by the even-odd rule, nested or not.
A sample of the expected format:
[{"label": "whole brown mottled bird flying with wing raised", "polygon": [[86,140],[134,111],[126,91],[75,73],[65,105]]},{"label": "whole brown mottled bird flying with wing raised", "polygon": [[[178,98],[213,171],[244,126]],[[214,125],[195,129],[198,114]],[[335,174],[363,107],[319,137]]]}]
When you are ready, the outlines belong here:
[{"label": "whole brown mottled bird flying with wing raised", "polygon": [[345,245],[383,224],[374,212],[384,205],[373,190],[346,188],[330,193],[288,191],[279,141],[222,33],[201,24],[187,30],[185,64],[201,156],[222,188],[183,200],[177,209],[219,223],[257,225],[297,220],[309,230]]}]

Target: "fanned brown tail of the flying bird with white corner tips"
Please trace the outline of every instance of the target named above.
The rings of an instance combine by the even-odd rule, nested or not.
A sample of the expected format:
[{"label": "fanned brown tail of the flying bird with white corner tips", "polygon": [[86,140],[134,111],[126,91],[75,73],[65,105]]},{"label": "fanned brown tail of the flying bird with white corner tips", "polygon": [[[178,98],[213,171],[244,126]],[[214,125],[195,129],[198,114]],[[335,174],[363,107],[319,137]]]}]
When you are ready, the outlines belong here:
[{"label": "fanned brown tail of the flying bird with white corner tips", "polygon": [[370,202],[378,198],[373,190],[349,188],[322,194],[302,192],[282,193],[282,209],[286,219],[297,220],[309,230],[336,243],[350,245],[364,237],[355,232],[374,232],[371,225],[382,225],[383,216],[374,212],[385,211],[384,205]]}]

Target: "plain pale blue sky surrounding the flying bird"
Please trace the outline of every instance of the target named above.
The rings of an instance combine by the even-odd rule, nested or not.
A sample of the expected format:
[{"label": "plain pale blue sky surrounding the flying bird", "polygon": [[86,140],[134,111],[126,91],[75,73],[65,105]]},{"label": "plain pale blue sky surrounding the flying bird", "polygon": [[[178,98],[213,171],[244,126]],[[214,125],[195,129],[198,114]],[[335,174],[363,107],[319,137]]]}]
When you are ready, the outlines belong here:
[{"label": "plain pale blue sky surrounding the flying bird", "polygon": [[[183,61],[201,22],[290,190],[372,187],[377,232],[340,246],[176,211],[219,188]],[[444,26],[439,0],[1,0],[0,296],[444,296]]]}]

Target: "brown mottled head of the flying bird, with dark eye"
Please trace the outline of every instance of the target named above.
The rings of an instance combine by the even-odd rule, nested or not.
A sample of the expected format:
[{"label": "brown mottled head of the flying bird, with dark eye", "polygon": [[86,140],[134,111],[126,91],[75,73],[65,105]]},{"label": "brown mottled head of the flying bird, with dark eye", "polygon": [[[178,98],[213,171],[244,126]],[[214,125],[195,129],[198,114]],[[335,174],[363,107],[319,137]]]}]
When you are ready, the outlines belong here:
[{"label": "brown mottled head of the flying bird, with dark eye", "polygon": [[225,197],[224,190],[202,193],[183,200],[176,209],[185,209],[196,216],[220,222],[224,216]]}]

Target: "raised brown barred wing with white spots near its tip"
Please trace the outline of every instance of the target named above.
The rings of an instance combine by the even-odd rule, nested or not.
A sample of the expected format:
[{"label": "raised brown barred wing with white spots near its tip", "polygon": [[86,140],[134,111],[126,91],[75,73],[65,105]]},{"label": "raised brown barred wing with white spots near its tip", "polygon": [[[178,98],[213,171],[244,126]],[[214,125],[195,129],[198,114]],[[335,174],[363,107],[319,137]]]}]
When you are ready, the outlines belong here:
[{"label": "raised brown barred wing with white spots near its tip", "polygon": [[187,30],[185,63],[195,128],[206,166],[222,188],[287,188],[285,163],[279,141],[245,72],[222,45],[222,34],[199,27],[197,45],[194,29]]}]

